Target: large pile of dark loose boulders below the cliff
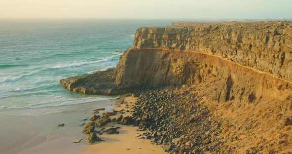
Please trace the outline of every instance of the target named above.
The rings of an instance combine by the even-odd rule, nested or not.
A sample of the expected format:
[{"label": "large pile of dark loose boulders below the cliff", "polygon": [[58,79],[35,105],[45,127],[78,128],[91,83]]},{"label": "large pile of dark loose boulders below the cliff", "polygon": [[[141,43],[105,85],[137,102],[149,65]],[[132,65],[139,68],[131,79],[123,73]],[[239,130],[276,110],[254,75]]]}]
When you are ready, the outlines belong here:
[{"label": "large pile of dark loose boulders below the cliff", "polygon": [[146,131],[142,138],[152,139],[170,153],[218,152],[222,143],[217,135],[220,123],[207,107],[184,89],[167,88],[137,93],[132,124]]}]

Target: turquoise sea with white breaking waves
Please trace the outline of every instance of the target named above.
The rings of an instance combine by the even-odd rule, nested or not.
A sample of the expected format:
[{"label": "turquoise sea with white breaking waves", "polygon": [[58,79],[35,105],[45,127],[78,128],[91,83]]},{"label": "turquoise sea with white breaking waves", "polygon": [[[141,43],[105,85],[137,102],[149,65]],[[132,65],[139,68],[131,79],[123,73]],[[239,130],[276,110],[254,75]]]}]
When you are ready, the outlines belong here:
[{"label": "turquoise sea with white breaking waves", "polygon": [[[72,94],[59,80],[114,67],[131,47],[141,26],[165,26],[150,20],[0,21],[0,112],[88,103],[108,96]],[[60,111],[60,109],[58,109]],[[26,110],[27,112],[27,110]]]}]

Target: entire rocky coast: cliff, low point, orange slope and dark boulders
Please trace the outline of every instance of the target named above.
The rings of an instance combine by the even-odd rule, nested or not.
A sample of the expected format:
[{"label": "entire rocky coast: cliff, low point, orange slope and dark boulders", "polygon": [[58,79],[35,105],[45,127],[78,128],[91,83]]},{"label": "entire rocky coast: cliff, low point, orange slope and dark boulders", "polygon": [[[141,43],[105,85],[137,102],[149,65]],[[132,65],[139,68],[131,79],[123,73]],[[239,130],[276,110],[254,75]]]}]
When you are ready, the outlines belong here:
[{"label": "entire rocky coast: cliff, low point, orange slope and dark boulders", "polygon": [[137,29],[115,68],[60,83],[133,94],[132,106],[91,118],[89,143],[133,125],[169,153],[291,153],[291,54],[290,21],[176,22]]}]

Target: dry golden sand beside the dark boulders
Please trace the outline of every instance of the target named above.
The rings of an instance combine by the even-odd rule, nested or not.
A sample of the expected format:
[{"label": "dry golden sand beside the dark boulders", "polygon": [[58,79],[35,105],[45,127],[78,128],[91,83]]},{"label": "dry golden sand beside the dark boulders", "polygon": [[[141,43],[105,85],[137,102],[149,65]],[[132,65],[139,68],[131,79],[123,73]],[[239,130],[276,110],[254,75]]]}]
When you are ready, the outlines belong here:
[{"label": "dry golden sand beside the dark boulders", "polygon": [[[121,104],[121,101],[118,101],[115,107],[115,110],[131,110],[131,107],[134,105],[135,98],[126,97],[124,102]],[[127,112],[123,115],[129,115],[131,113]],[[116,115],[118,117],[119,115]],[[138,127],[133,126],[124,126],[124,125],[114,125],[107,124],[105,127],[119,126],[120,134],[116,135],[100,135],[99,137],[104,142],[98,142],[93,145],[88,145],[84,147],[78,154],[91,154],[91,153],[139,153],[139,154],[162,154],[165,153],[159,145],[154,145],[150,140],[140,139],[138,134],[142,132],[136,131]]]}]

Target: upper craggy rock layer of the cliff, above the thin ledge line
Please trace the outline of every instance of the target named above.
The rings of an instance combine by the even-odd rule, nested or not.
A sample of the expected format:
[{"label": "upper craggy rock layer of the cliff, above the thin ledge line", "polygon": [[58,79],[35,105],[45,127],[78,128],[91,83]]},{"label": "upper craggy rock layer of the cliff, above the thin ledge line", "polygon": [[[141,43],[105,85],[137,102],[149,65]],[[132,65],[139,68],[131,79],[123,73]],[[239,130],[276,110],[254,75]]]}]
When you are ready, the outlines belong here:
[{"label": "upper craggy rock layer of the cliff, above the thin ledge line", "polygon": [[292,81],[291,22],[173,25],[137,29],[134,47],[208,53]]}]

